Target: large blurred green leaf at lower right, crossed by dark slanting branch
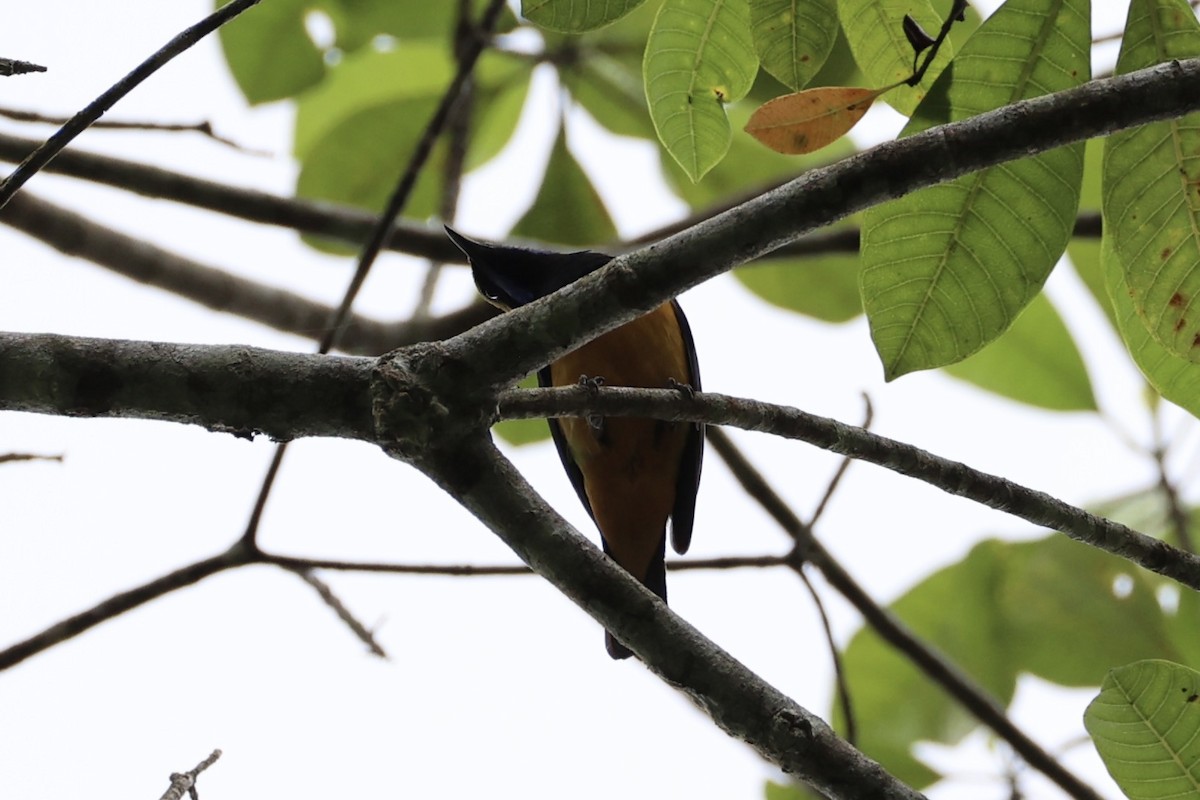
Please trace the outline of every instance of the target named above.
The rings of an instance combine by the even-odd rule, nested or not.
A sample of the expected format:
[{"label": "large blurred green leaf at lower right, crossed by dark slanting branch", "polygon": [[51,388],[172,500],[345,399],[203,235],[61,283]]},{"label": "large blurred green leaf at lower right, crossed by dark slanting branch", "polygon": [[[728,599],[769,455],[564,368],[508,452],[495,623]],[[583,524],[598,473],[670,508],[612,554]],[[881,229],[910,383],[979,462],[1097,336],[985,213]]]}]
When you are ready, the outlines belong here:
[{"label": "large blurred green leaf at lower right, crossed by dark slanting branch", "polygon": [[[992,540],[925,578],[892,610],[1007,705],[1021,673],[1096,685],[1109,664],[1177,657],[1157,600],[1162,583],[1064,536]],[[913,786],[937,777],[912,754],[917,741],[954,744],[978,724],[870,630],[851,639],[844,669],[859,746]],[[833,714],[841,726],[841,711]]]}]

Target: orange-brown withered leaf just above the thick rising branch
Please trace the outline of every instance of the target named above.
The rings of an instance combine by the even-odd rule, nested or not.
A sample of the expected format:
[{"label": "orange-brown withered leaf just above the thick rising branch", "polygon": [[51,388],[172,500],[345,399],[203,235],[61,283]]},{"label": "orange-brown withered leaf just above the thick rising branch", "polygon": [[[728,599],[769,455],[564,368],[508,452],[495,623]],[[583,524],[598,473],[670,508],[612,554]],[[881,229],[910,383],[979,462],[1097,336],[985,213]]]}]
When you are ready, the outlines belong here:
[{"label": "orange-brown withered leaf just above the thick rising branch", "polygon": [[884,91],[821,86],[784,95],[760,106],[745,131],[775,152],[814,152],[845,136]]}]

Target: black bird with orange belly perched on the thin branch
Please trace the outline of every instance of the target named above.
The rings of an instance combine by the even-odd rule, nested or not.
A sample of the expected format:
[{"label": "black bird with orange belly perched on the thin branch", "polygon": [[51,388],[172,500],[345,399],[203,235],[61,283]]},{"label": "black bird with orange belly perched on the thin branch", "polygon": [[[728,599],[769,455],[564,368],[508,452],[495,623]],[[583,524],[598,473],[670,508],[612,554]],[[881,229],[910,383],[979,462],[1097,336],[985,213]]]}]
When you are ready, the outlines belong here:
[{"label": "black bird with orange belly perched on the thin branch", "polygon": [[[511,311],[599,270],[611,255],[527,249],[476,241],[446,227],[470,264],[475,287]],[[538,372],[539,386],[676,387],[700,391],[700,365],[688,318],[670,300],[568,353]],[[680,555],[691,543],[704,458],[703,426],[634,417],[550,419],[550,433],[604,552],[667,600],[666,527]],[[605,631],[613,658],[632,652]]]}]

